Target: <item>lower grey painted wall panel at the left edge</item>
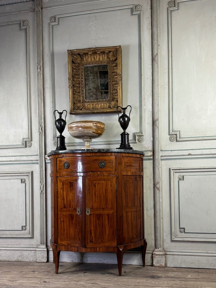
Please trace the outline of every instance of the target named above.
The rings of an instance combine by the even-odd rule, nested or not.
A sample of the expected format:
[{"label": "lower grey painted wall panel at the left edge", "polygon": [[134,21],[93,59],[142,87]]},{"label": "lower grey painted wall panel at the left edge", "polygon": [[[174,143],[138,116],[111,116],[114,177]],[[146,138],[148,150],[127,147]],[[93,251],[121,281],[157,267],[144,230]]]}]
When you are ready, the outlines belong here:
[{"label": "lower grey painted wall panel at the left edge", "polygon": [[[36,248],[39,246],[40,239],[38,158],[37,160],[28,159],[22,161],[16,160],[16,157],[12,158],[14,159],[0,161],[0,181],[2,180],[1,183],[6,183],[4,186],[5,189],[3,189],[3,185],[1,185],[1,195],[6,193],[6,187],[7,191],[10,187],[12,188],[9,194],[7,192],[5,198],[0,196],[0,223],[4,223],[4,228],[7,225],[6,230],[0,230],[0,249],[3,247],[7,249],[11,249],[11,247]],[[0,160],[3,159],[0,158]],[[26,182],[21,179],[25,179]],[[21,181],[24,183],[21,183]],[[12,196],[8,197],[10,194]],[[23,205],[24,198],[26,202],[24,200]],[[7,200],[9,200],[8,204],[5,203]],[[10,215],[5,204],[11,209]],[[11,206],[11,204],[13,204],[13,206]],[[21,208],[25,211],[20,211]],[[20,219],[18,218],[19,213],[21,213]],[[26,215],[24,215],[25,213]],[[24,224],[25,218],[26,225]],[[19,228],[18,226],[18,230],[10,231],[8,226],[14,224],[14,219],[15,223],[17,223],[16,225],[20,223],[21,227]],[[22,220],[24,220],[24,223]],[[26,230],[22,230],[22,226],[26,226]],[[15,227],[15,229],[16,228],[17,227]]]}]

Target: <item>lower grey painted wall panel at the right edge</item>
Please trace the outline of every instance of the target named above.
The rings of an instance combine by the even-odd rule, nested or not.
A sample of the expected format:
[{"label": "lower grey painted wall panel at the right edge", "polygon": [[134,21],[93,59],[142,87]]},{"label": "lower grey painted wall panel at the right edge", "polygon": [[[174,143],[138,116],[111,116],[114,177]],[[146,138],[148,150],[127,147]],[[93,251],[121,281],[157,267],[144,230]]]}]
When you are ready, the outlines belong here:
[{"label": "lower grey painted wall panel at the right edge", "polygon": [[[162,159],[163,237],[166,251],[180,251],[181,255],[184,251],[193,251],[193,253],[215,251],[213,218],[215,209],[212,209],[213,204],[209,203],[214,202],[215,197],[215,164],[215,158],[211,159],[211,157],[198,160],[193,158]],[[198,175],[200,179],[195,179],[197,177],[195,175]],[[210,185],[207,181],[209,175],[213,180]],[[179,176],[185,176],[187,182],[185,186],[182,186],[185,180],[179,180]],[[187,230],[179,226],[179,219],[180,224],[184,223]],[[206,223],[208,230],[205,227]],[[180,228],[185,228],[185,230],[180,231]],[[200,267],[204,267],[202,263]]]}]

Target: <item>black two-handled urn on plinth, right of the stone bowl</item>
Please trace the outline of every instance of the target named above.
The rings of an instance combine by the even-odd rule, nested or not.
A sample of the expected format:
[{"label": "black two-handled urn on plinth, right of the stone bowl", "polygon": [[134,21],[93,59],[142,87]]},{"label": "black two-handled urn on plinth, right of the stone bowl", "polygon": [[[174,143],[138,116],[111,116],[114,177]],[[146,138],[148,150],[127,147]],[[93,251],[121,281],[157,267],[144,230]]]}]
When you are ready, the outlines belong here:
[{"label": "black two-handled urn on plinth, right of the stone bowl", "polygon": [[130,149],[133,150],[132,147],[130,147],[130,143],[129,143],[129,133],[126,132],[126,129],[128,128],[129,122],[130,122],[130,113],[129,116],[125,113],[126,109],[130,107],[130,112],[132,110],[132,107],[130,105],[128,105],[127,107],[121,107],[118,106],[116,107],[117,113],[118,113],[118,108],[122,109],[123,114],[121,116],[119,116],[118,113],[118,122],[120,123],[120,126],[123,129],[123,132],[121,134],[121,144],[120,147],[116,148],[116,149]]}]

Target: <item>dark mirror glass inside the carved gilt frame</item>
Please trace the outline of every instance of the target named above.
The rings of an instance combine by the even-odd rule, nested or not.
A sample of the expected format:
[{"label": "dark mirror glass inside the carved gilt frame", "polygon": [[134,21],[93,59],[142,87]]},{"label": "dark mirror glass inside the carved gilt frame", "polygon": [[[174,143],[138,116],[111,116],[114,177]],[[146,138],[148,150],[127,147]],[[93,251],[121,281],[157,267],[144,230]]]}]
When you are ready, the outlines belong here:
[{"label": "dark mirror glass inside the carved gilt frame", "polygon": [[107,64],[84,66],[84,97],[87,101],[109,99]]}]

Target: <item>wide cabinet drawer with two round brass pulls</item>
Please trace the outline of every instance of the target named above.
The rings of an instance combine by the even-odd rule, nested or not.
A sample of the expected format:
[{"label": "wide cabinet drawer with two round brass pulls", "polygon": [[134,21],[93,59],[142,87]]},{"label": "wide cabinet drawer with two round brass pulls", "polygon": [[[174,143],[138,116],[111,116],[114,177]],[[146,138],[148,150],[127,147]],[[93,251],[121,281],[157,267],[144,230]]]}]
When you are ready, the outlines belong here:
[{"label": "wide cabinet drawer with two round brass pulls", "polygon": [[57,172],[115,171],[115,156],[74,156],[57,159]]}]

